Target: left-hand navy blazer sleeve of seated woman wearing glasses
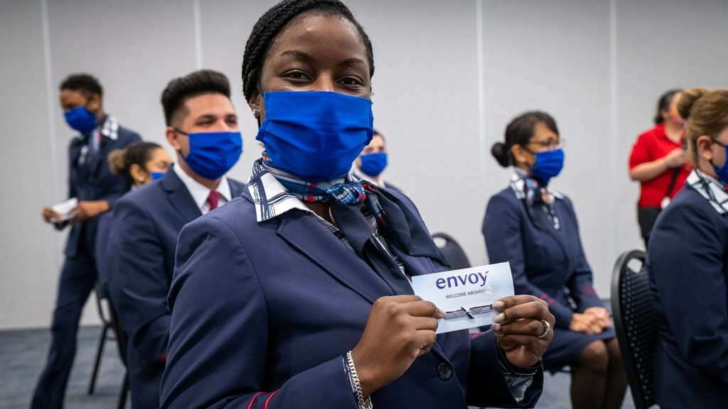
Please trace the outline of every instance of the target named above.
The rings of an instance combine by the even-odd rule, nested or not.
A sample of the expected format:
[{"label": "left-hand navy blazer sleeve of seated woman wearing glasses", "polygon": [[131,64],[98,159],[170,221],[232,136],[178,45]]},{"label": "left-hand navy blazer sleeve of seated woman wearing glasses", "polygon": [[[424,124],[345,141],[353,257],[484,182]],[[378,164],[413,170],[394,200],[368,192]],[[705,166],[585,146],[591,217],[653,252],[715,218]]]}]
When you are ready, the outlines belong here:
[{"label": "left-hand navy blazer sleeve of seated woman wearing glasses", "polygon": [[523,234],[518,209],[505,197],[493,196],[488,202],[486,217],[483,219],[483,237],[486,238],[488,259],[491,263],[510,262],[513,285],[516,294],[530,294],[546,298],[549,310],[556,317],[558,327],[569,327],[574,311],[529,282],[526,277],[526,259],[523,255]]}]

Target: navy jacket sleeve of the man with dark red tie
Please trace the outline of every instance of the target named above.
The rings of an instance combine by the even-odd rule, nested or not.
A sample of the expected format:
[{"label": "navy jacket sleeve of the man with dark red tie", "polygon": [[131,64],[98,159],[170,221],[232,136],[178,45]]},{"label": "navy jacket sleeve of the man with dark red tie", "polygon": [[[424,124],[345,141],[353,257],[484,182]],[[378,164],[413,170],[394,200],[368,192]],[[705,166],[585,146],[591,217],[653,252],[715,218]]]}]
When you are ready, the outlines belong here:
[{"label": "navy jacket sleeve of the man with dark red tie", "polygon": [[170,327],[164,249],[151,216],[132,200],[117,203],[112,229],[109,290],[124,311],[122,326],[131,347],[151,361],[162,360]]}]

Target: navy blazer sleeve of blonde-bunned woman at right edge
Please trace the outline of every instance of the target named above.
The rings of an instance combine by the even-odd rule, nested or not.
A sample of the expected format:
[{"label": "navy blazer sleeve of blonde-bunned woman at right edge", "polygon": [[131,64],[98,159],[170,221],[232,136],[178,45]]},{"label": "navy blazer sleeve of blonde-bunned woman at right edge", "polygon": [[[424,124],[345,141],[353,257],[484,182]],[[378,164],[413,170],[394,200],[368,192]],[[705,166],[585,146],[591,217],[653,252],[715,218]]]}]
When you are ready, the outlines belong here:
[{"label": "navy blazer sleeve of blonde-bunned woman at right edge", "polygon": [[684,359],[728,384],[725,239],[705,210],[664,212],[649,240],[649,269]]}]

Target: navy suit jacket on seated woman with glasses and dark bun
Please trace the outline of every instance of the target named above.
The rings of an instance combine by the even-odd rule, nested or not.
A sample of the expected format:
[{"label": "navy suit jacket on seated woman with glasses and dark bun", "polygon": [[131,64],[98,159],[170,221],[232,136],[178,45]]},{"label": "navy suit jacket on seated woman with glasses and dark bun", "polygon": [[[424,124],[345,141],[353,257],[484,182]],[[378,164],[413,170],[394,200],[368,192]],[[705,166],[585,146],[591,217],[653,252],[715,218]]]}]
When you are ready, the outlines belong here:
[{"label": "navy suit jacket on seated woman with glasses and dark bun", "polygon": [[556,325],[568,328],[574,314],[569,298],[582,312],[604,303],[592,285],[592,270],[579,238],[571,200],[566,196],[557,198],[554,206],[561,229],[553,229],[545,212],[534,208],[534,218],[540,218],[544,226],[539,229],[523,200],[515,196],[513,188],[505,188],[488,202],[483,237],[491,263],[510,262],[515,293],[547,301]]}]

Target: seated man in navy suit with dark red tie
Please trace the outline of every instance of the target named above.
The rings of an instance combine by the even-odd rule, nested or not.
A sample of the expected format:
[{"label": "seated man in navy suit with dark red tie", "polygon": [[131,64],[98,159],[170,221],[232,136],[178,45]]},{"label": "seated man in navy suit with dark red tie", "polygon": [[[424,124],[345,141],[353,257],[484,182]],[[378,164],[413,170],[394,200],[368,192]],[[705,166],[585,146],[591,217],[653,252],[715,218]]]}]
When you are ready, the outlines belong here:
[{"label": "seated man in navy suit with dark red tie", "polygon": [[242,194],[225,173],[242,152],[230,86],[223,74],[195,71],[162,92],[167,140],[177,164],[156,183],[127,194],[114,210],[109,293],[129,335],[133,408],[159,405],[165,369],[170,290],[182,227]]}]

